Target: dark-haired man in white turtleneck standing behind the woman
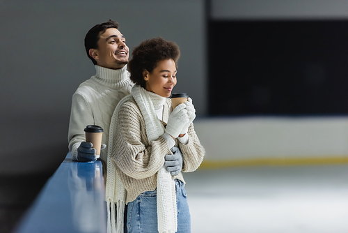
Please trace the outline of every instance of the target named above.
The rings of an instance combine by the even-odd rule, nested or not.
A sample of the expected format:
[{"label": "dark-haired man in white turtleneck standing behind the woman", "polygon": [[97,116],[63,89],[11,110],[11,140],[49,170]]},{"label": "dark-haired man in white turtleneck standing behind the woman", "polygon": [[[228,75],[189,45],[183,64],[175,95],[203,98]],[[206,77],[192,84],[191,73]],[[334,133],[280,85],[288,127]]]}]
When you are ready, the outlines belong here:
[{"label": "dark-haired man in white turtleneck standing behind the woman", "polygon": [[[133,86],[127,71],[129,48],[118,31],[117,22],[109,20],[90,29],[85,37],[85,48],[96,74],[80,84],[72,96],[68,133],[72,160],[80,162],[97,160],[92,144],[85,142],[84,128],[97,125],[104,129],[104,149],[109,140],[113,110]],[[106,162],[106,151],[101,152],[100,158]]]}]

